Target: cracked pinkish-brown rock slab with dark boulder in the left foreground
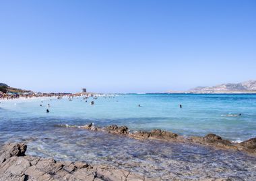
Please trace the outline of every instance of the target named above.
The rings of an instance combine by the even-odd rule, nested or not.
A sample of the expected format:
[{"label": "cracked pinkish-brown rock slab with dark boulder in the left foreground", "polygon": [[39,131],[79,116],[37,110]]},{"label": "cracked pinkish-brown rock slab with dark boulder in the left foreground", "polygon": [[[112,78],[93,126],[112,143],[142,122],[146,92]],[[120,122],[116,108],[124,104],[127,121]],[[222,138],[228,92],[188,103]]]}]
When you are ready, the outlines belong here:
[{"label": "cracked pinkish-brown rock slab with dark boulder in the left foreground", "polygon": [[155,180],[111,166],[85,162],[57,162],[52,158],[25,156],[24,143],[9,143],[0,151],[0,181],[6,180]]}]

